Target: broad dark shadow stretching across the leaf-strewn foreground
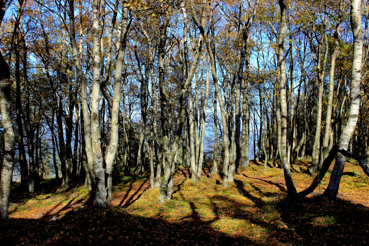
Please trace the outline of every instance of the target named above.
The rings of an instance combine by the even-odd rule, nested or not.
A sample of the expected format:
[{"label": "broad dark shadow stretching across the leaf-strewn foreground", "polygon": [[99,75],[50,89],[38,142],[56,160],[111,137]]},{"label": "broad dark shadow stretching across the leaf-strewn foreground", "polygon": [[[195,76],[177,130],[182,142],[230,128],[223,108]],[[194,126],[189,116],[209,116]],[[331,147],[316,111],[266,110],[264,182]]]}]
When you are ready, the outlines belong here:
[{"label": "broad dark shadow stretching across the leaf-strewn foreground", "polygon": [[[255,212],[227,195],[211,198],[209,206],[215,215],[211,221],[201,219],[192,201],[190,217],[179,222],[135,216],[115,207],[101,211],[85,206],[65,213],[57,221],[45,217],[3,221],[0,245],[365,245],[369,238],[369,209],[362,205],[341,199],[326,203],[313,197],[291,208],[278,209],[247,192],[242,181],[236,180],[235,185],[256,204]],[[218,206],[217,200],[224,202],[223,206]],[[278,217],[268,218],[269,212]],[[212,226],[221,216],[255,224],[255,228],[269,233],[270,241],[221,233]],[[276,223],[276,219],[283,223]]]}]

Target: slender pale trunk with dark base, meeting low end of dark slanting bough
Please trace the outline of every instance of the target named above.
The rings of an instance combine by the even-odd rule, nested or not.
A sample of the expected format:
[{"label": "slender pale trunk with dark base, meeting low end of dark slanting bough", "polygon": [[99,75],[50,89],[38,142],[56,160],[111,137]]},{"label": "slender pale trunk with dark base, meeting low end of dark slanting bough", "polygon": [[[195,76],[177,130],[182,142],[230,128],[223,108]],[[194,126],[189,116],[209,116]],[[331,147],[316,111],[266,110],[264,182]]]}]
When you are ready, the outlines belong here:
[{"label": "slender pale trunk with dark base, meeting low end of dark slanting bough", "polygon": [[280,71],[280,115],[281,115],[281,136],[280,136],[280,156],[282,160],[284,180],[286,181],[287,193],[289,196],[296,194],[294,187],[290,163],[287,160],[287,99],[286,99],[286,60],[284,59],[284,37],[286,35],[286,4],[284,0],[279,0],[281,13],[281,27],[278,35],[278,65]]}]

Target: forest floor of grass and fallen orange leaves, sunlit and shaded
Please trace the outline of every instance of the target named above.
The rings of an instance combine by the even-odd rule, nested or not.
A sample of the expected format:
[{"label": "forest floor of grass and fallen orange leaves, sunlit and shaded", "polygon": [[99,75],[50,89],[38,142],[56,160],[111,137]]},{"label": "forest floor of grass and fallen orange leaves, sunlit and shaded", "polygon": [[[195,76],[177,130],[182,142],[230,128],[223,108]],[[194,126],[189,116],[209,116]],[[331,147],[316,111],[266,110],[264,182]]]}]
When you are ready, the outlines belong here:
[{"label": "forest floor of grass and fallen orange leaves, sunlit and shaded", "polygon": [[[261,162],[239,168],[227,188],[209,168],[196,184],[188,168],[177,168],[173,199],[163,205],[148,175],[115,177],[112,206],[102,210],[86,205],[83,182],[61,189],[45,180],[33,195],[15,184],[0,245],[368,245],[369,182],[358,164],[346,163],[337,201],[320,197],[328,171],[312,194],[287,208],[280,206],[283,170],[270,163],[276,166],[266,172]],[[293,165],[297,191],[314,178],[308,164]]]}]

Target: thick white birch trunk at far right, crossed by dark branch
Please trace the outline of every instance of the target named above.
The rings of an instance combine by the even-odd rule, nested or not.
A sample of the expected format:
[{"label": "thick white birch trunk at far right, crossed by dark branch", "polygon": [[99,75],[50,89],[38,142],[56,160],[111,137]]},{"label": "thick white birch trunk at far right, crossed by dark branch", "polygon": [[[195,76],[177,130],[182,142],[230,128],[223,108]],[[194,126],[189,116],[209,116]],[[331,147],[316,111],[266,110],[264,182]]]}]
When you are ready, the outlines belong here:
[{"label": "thick white birch trunk at far right, crossed by dark branch", "polygon": [[[363,30],[361,27],[361,1],[351,1],[351,30],[354,37],[354,51],[352,60],[351,85],[350,85],[350,109],[346,126],[339,138],[338,148],[347,149],[352,134],[355,131],[356,122],[359,116],[360,108],[360,81],[361,66],[363,57]],[[324,194],[330,199],[335,199],[338,194],[339,183],[341,181],[342,172],[345,168],[346,157],[341,153],[336,156],[336,161],[332,170],[331,178]]]}]

